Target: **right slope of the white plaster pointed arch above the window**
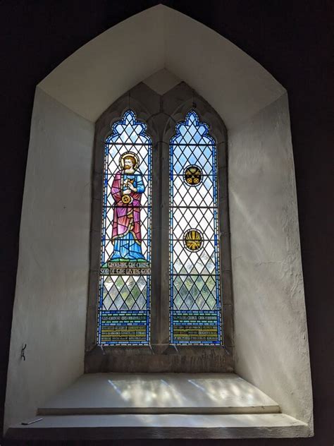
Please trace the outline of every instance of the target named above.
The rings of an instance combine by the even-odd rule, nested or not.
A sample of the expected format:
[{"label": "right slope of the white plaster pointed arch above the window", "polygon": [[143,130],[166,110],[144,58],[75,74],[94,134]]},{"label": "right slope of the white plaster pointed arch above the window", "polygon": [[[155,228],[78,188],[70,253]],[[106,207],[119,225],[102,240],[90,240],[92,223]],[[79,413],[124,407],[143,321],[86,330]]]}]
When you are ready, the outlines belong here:
[{"label": "right slope of the white plaster pointed arch above the window", "polygon": [[227,128],[283,95],[285,88],[225,37],[171,8],[163,11],[166,68],[197,90]]}]

